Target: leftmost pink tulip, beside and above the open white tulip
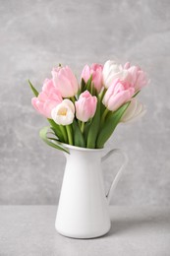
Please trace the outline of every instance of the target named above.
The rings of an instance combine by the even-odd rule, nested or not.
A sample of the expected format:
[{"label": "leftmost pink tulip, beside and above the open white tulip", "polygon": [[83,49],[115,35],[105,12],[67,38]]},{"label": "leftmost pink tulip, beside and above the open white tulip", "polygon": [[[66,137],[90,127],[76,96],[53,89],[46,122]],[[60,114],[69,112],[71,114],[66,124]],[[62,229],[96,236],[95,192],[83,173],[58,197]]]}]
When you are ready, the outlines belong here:
[{"label": "leftmost pink tulip, beside and above the open white tulip", "polygon": [[46,79],[42,92],[32,97],[31,104],[42,115],[51,118],[51,110],[63,100],[60,92],[54,87],[52,80]]}]

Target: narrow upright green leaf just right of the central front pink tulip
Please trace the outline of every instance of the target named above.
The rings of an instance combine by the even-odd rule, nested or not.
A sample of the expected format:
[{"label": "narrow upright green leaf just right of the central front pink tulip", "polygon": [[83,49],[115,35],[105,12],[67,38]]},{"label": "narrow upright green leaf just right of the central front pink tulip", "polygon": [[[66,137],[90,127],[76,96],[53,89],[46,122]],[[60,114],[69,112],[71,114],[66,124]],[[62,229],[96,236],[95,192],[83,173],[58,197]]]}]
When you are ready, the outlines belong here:
[{"label": "narrow upright green leaf just right of the central front pink tulip", "polygon": [[95,149],[96,138],[100,125],[100,100],[97,98],[97,107],[94,117],[92,118],[89,131],[87,134],[86,148]]}]

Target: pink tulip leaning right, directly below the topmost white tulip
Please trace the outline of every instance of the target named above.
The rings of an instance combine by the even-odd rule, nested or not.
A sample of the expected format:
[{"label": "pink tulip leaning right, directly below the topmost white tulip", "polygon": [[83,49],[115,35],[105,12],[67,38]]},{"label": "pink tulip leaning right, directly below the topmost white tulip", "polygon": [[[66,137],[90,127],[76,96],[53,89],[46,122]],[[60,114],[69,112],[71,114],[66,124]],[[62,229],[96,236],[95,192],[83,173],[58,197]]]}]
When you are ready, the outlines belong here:
[{"label": "pink tulip leaning right, directly below the topmost white tulip", "polygon": [[115,111],[130,100],[134,93],[135,89],[129,83],[116,79],[107,90],[102,102],[110,111]]}]

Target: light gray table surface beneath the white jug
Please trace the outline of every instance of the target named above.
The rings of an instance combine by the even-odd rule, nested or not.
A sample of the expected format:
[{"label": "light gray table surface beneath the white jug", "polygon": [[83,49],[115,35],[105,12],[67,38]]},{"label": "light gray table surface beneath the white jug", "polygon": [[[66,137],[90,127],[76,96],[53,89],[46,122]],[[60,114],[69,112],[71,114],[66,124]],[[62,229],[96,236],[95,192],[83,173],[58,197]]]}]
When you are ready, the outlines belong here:
[{"label": "light gray table surface beneath the white jug", "polygon": [[110,232],[95,239],[57,233],[55,206],[1,206],[0,256],[169,256],[170,208],[110,207]]}]

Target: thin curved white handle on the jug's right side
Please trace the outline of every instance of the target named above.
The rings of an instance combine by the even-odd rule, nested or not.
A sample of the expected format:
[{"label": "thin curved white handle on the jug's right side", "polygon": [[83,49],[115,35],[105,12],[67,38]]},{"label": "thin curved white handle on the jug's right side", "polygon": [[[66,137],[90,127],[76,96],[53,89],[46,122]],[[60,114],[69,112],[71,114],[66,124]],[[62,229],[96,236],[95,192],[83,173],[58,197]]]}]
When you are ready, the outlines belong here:
[{"label": "thin curved white handle on the jug's right side", "polygon": [[108,200],[108,203],[110,203],[113,191],[115,190],[115,188],[118,184],[118,181],[120,180],[120,178],[122,176],[123,170],[124,170],[125,166],[128,163],[128,156],[126,155],[126,153],[124,151],[122,151],[120,149],[114,149],[114,150],[109,151],[104,157],[102,157],[101,161],[107,160],[110,156],[112,156],[115,153],[121,154],[124,158],[124,162],[122,163],[121,167],[119,168],[119,170],[118,170],[115,178],[113,179],[113,181],[110,185],[110,188],[109,188],[109,190],[106,194],[106,198]]}]

